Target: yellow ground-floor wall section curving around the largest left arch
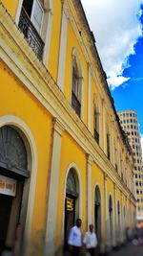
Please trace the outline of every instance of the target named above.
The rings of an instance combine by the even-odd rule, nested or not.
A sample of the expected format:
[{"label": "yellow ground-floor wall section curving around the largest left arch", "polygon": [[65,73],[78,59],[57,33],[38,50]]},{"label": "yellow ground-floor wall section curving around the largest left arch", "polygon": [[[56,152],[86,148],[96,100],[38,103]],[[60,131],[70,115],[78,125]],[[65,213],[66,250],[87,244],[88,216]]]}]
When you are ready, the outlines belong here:
[{"label": "yellow ground-floor wall section curving around the largest left arch", "polygon": [[[38,157],[37,182],[32,219],[33,247],[43,243],[47,180],[51,156],[51,116],[31,93],[13,77],[7,66],[1,62],[0,115],[13,115],[23,120],[31,129],[35,139]],[[40,207],[39,207],[40,205]]]}]

